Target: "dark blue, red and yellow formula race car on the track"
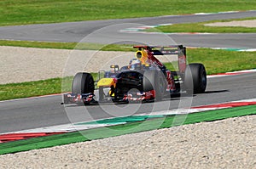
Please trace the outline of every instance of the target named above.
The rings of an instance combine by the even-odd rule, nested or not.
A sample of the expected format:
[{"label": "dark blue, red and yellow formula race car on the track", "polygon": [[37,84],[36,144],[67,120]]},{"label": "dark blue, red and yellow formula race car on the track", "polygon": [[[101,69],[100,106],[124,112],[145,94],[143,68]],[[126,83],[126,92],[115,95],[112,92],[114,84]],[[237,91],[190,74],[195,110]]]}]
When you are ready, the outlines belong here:
[{"label": "dark blue, red and yellow formula race car on the track", "polygon": [[[73,78],[72,93],[64,94],[64,104],[91,102],[130,102],[161,100],[170,94],[204,93],[207,72],[202,64],[187,64],[183,45],[135,46],[136,58],[129,65],[100,70],[94,81],[90,73],[79,72]],[[156,55],[177,55],[177,70],[167,70]]]}]

